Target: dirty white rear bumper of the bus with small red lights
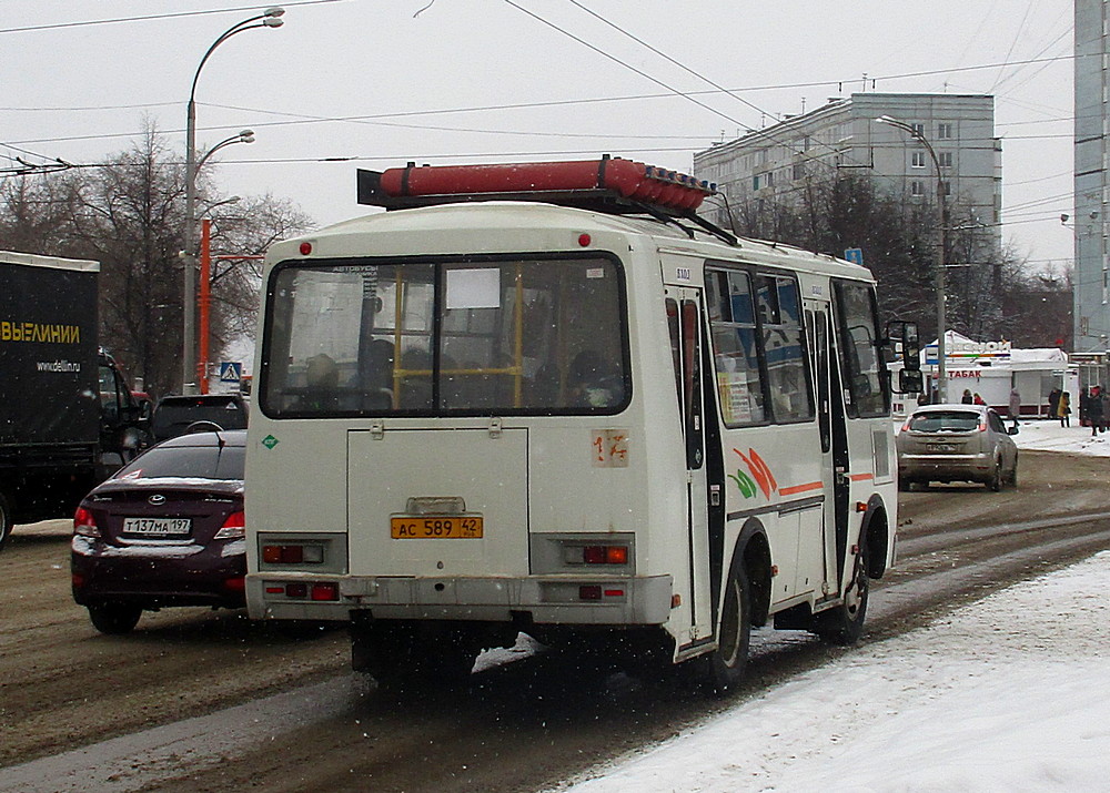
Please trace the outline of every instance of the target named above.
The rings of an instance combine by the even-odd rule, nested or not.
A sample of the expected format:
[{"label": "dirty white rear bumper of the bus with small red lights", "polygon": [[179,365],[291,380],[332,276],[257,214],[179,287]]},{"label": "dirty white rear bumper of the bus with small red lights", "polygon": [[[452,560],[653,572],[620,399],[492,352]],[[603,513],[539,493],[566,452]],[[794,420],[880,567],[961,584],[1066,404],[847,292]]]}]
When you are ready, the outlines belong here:
[{"label": "dirty white rear bumper of the bus with small red lights", "polygon": [[[589,578],[311,576],[246,577],[254,619],[347,621],[369,611],[383,620],[538,624],[660,626],[670,617],[669,576]],[[327,598],[327,599],[325,599]]]}]

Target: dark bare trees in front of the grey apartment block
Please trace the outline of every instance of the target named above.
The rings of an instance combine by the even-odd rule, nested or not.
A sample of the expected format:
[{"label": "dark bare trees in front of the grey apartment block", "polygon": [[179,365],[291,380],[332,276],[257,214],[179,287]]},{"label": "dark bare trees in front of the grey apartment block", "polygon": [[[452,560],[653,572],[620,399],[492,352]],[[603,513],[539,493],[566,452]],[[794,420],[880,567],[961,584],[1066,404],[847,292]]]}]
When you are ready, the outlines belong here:
[{"label": "dark bare trees in front of the grey apartment block", "polygon": [[[859,247],[879,284],[884,319],[914,319],[936,335],[937,210],[930,196],[879,190],[866,175],[805,175],[773,195],[729,206],[743,236],[785,242],[842,256]],[[1070,339],[1070,285],[1028,274],[966,203],[955,200],[946,222],[946,314],[949,329],[972,338],[1008,338],[1032,346]]]}]

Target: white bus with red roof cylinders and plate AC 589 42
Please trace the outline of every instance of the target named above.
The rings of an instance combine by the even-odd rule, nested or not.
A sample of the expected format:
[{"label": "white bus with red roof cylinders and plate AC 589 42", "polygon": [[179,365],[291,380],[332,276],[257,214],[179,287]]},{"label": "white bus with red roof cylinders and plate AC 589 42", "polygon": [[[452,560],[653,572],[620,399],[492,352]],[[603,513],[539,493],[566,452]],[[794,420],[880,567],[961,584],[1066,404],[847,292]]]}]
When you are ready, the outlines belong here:
[{"label": "white bus with red roof cylinders and plate AC 589 42", "polygon": [[627,162],[360,172],[395,211],[271,248],[252,617],[347,622],[381,678],[523,631],[722,691],[751,626],[860,636],[897,527],[874,279]]}]

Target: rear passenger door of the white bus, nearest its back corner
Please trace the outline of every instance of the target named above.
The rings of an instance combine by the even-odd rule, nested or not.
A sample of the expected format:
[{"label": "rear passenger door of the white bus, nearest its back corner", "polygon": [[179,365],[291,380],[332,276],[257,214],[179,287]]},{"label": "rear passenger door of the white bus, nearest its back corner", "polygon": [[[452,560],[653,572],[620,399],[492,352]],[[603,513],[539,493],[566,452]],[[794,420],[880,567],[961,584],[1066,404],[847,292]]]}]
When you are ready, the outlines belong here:
[{"label": "rear passenger door of the white bus, nearest its back corner", "polygon": [[[707,459],[707,425],[716,427],[716,410],[707,404],[712,387],[703,383],[712,372],[702,333],[702,293],[698,289],[666,289],[667,324],[675,365],[675,386],[682,414],[686,466],[686,531],[689,590],[682,592],[690,604],[690,641],[707,639],[716,624],[712,570],[719,579],[724,546],[725,504],[723,462]],[[708,420],[706,414],[709,415]],[[719,440],[719,439],[718,439]],[[708,444],[708,448],[714,448]],[[719,449],[719,443],[717,444]],[[719,458],[719,453],[712,455]],[[713,474],[714,470],[718,472]],[[716,541],[710,535],[716,532]],[[706,563],[708,560],[708,565]]]}]

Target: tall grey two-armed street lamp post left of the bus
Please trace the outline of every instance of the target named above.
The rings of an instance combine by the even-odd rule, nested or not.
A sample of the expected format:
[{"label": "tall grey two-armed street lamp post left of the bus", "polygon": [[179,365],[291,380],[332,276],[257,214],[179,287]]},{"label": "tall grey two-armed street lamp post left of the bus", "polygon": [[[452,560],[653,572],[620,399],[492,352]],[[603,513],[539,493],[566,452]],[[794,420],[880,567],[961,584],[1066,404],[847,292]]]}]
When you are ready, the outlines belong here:
[{"label": "tall grey two-armed street lamp post left of the bus", "polygon": [[215,48],[230,39],[232,35],[235,35],[235,33],[242,33],[244,30],[253,30],[254,28],[280,28],[282,26],[281,17],[284,13],[285,10],[282,8],[271,8],[256,17],[244,19],[242,22],[233,24],[231,28],[225,30],[220,38],[212,42],[212,45],[209,47],[204,57],[201,58],[200,65],[196,67],[196,72],[193,74],[192,88],[189,91],[189,106],[186,109],[185,116],[185,227],[184,233],[182,234],[184,243],[184,251],[182,253],[184,254],[183,258],[185,265],[184,301],[182,302],[182,311],[184,314],[182,323],[182,344],[184,348],[181,364],[181,388],[182,392],[186,394],[196,386],[196,384],[192,382],[192,379],[196,376],[195,308],[193,301],[196,292],[196,252],[194,250],[196,247],[196,174],[200,166],[204,163],[204,159],[211,155],[212,152],[221,145],[251,142],[243,140],[242,134],[235,135],[234,138],[228,139],[216,146],[213,146],[200,163],[196,162],[196,81],[200,80],[201,70],[204,68],[204,63],[208,62],[209,57]]}]

